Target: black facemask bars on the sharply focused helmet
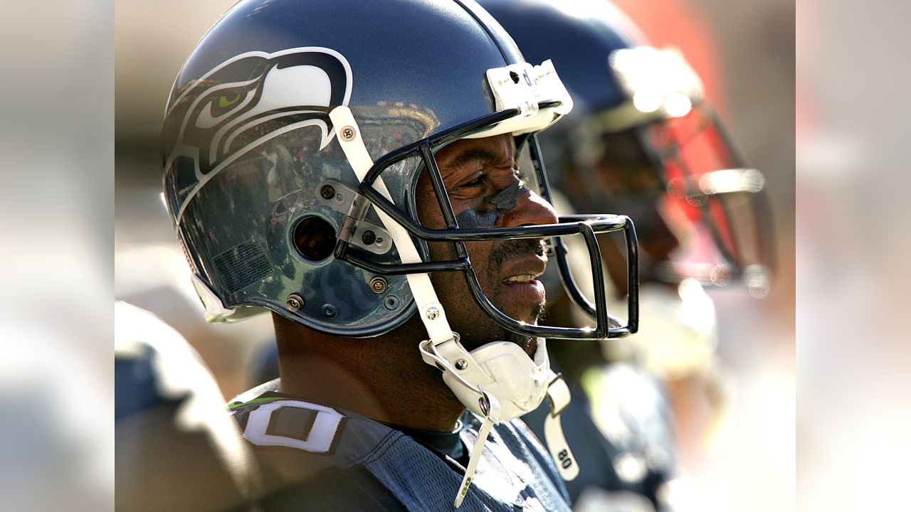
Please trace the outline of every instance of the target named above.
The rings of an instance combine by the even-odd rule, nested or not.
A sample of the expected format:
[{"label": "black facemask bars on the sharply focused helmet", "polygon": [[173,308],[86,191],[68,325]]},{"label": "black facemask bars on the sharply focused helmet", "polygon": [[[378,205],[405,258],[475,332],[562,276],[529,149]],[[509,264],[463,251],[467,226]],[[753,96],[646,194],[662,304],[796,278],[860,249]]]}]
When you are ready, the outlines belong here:
[{"label": "black facemask bars on the sharply focused helmet", "polygon": [[[542,101],[538,104],[538,108],[554,108],[558,105],[558,101]],[[482,118],[478,118],[475,121],[459,125],[455,128],[450,128],[433,138],[422,139],[418,142],[415,142],[414,144],[400,148],[385,155],[383,158],[378,159],[374,163],[373,168],[367,172],[359,188],[359,192],[363,197],[355,201],[355,207],[352,209],[352,213],[349,214],[348,219],[346,219],[343,224],[342,230],[339,232],[339,240],[336,243],[334,251],[335,258],[343,261],[348,261],[353,265],[359,266],[367,271],[386,275],[434,271],[461,271],[466,276],[466,283],[468,284],[469,292],[471,292],[472,296],[480,305],[481,309],[484,310],[497,324],[513,333],[555,339],[582,340],[617,338],[626,336],[630,333],[635,333],[639,323],[638,293],[635,292],[638,291],[639,282],[638,260],[635,230],[633,228],[632,221],[628,217],[619,215],[578,215],[574,216],[570,222],[561,222],[559,224],[551,225],[493,229],[458,228],[458,224],[455,220],[455,211],[450,204],[443,178],[440,174],[439,169],[437,168],[433,149],[443,147],[449,142],[455,141],[459,138],[465,138],[467,135],[476,133],[485,128],[490,128],[496,125],[496,123],[502,122],[506,119],[514,118],[519,113],[520,110],[518,108],[512,108],[489,114]],[[544,168],[540,164],[539,153],[537,151],[537,139],[532,139],[532,147],[535,148],[533,160],[537,160],[537,164],[535,166],[537,177],[539,179],[541,187],[547,190],[547,179],[544,174]],[[418,224],[415,220],[404,215],[404,212],[395,207],[391,201],[386,200],[383,194],[374,188],[374,181],[380,176],[380,173],[382,173],[384,169],[389,168],[399,161],[415,156],[420,157],[423,160],[425,169],[428,171],[431,183],[435,190],[436,199],[439,202],[440,208],[443,212],[444,220],[446,222],[447,229],[445,230],[426,229],[425,227]],[[549,192],[547,191],[545,193],[545,199],[549,200]],[[401,224],[405,230],[408,230],[412,235],[424,241],[451,242],[455,247],[457,260],[381,264],[366,260],[349,251],[349,241],[351,240],[353,231],[356,229],[356,223],[357,221],[363,219],[363,214],[366,212],[371,203],[376,208],[383,210],[384,213]],[[624,235],[627,239],[627,246],[630,248],[628,252],[628,255],[630,257],[630,317],[629,321],[626,324],[622,324],[618,319],[611,318],[608,315],[606,304],[607,297],[603,285],[604,275],[600,262],[599,242],[595,237],[596,233],[605,233],[618,230],[622,230],[624,232]],[[591,312],[593,318],[596,320],[597,325],[594,328],[569,328],[531,325],[528,323],[518,322],[507,316],[507,314],[504,312],[500,312],[496,306],[494,306],[493,303],[487,299],[485,292],[483,292],[481,289],[480,283],[478,282],[476,274],[471,266],[471,262],[468,260],[468,253],[464,243],[465,241],[493,241],[509,239],[558,239],[559,236],[566,236],[571,234],[581,234],[585,239],[587,248],[589,250],[589,263],[591,265],[592,275],[595,278],[594,282],[600,283],[595,285],[595,303],[590,304],[587,301],[584,302],[589,305],[589,308],[587,308],[586,311]],[[584,296],[581,292],[578,291],[578,287],[572,280],[571,275],[568,275],[568,265],[565,262],[565,246],[563,252],[563,255],[558,256],[558,261],[564,260],[563,263],[558,263],[561,269],[561,274],[567,274],[564,282],[568,283],[568,286],[575,289],[568,290],[568,292],[570,293],[570,296],[579,297],[584,300]]]}]

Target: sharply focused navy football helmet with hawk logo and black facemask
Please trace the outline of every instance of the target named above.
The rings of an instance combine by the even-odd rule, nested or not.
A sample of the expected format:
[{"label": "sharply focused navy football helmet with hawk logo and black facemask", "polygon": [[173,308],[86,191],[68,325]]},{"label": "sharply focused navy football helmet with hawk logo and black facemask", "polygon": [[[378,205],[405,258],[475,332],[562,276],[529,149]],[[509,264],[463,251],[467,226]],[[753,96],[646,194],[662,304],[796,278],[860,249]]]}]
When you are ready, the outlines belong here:
[{"label": "sharply focused navy football helmet with hawk logo and black facemask", "polygon": [[[442,188],[437,150],[508,133],[535,162],[530,186],[547,198],[535,133],[571,104],[553,67],[526,64],[470,0],[241,1],[180,70],[162,130],[165,197],[207,318],[232,321],[266,308],[325,333],[373,336],[419,309],[409,276],[456,271],[481,309],[512,333],[635,332],[636,243],[627,217],[465,229]],[[333,117],[351,120],[339,126]],[[349,153],[352,141],[365,151]],[[367,162],[363,176],[353,171],[358,162]],[[417,218],[422,172],[446,229]],[[403,257],[392,232],[399,228],[418,260]],[[603,286],[595,286],[595,301],[586,303],[594,328],[530,325],[500,312],[465,249],[466,241],[577,236],[603,281],[595,233],[608,231],[630,241],[628,320],[609,317]],[[428,241],[451,243],[457,257],[431,261]]]}]

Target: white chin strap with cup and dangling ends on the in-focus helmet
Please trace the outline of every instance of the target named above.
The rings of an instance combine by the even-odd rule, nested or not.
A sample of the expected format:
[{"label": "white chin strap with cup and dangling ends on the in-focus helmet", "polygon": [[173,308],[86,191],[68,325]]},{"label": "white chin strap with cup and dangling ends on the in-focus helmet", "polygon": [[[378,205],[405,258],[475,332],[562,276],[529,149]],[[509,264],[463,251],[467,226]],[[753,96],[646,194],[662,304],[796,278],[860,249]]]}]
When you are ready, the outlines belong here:
[{"label": "white chin strap with cup and dangling ends on the in-focus helmet", "polygon": [[[374,162],[367,152],[351,109],[344,106],[333,108],[329,118],[333,121],[333,129],[340,135],[337,140],[345,157],[357,179],[363,181]],[[341,133],[344,133],[345,137],[342,137]],[[382,177],[374,181],[374,188],[387,200],[392,201]],[[422,261],[408,231],[383,210],[374,210],[392,237],[402,262]],[[442,370],[443,380],[459,401],[470,411],[484,418],[477,442],[468,459],[465,477],[455,497],[455,507],[462,504],[468,487],[471,486],[472,476],[475,474],[487,435],[493,425],[533,411],[544,399],[545,394],[548,394],[551,401],[551,415],[548,415],[545,424],[545,435],[548,446],[551,446],[551,456],[554,456],[554,462],[564,478],[574,478],[578,474],[578,467],[569,451],[558,420],[559,413],[569,403],[569,392],[562,379],[550,371],[544,340],[538,340],[534,360],[516,343],[508,342],[487,343],[469,353],[462,343],[459,343],[458,334],[453,333],[449,327],[443,305],[437,299],[434,286],[430,282],[430,274],[410,273],[405,274],[405,277],[429,336],[428,340],[418,345],[422,358],[425,363]],[[550,388],[554,390],[551,392]],[[568,460],[569,464],[562,462],[565,460]]]}]

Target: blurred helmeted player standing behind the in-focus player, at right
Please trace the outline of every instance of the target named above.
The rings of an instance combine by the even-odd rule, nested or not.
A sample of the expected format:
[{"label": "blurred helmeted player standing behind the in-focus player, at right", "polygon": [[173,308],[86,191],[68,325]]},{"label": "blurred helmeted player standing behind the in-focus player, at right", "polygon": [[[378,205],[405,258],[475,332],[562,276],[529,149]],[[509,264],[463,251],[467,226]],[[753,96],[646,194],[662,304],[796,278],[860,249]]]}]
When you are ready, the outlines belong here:
[{"label": "blurred helmeted player standing behind the in-focus player, at right", "polygon": [[[754,296],[768,292],[773,248],[763,175],[737,158],[680,53],[647,46],[613,5],[482,5],[524,56],[553,59],[574,98],[567,120],[540,136],[552,184],[562,192],[558,212],[620,211],[640,234],[640,333],[551,351],[575,392],[564,412],[582,468],[568,482],[574,507],[682,506],[670,484],[674,434],[703,445],[728,400],[715,356],[714,307],[702,287],[740,281]],[[615,278],[614,298],[624,298],[622,244],[601,244],[601,256]],[[573,274],[580,281],[589,279],[584,263]],[[552,277],[548,321],[584,322]],[[539,409],[526,420],[540,435],[547,415]]]}]

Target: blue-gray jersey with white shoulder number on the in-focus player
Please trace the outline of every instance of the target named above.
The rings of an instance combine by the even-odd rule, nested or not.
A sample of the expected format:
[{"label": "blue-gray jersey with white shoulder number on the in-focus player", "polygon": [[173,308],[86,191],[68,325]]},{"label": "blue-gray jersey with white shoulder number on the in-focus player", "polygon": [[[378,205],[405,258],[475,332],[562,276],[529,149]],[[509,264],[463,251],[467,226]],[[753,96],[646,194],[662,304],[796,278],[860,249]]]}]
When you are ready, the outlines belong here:
[{"label": "blue-gray jersey with white shoulder number on the in-focus player", "polygon": [[[277,393],[277,381],[230,405],[271,489],[266,510],[453,509],[465,468],[372,419]],[[464,415],[469,447],[480,422]],[[566,511],[557,469],[527,426],[496,425],[459,510]]]}]

